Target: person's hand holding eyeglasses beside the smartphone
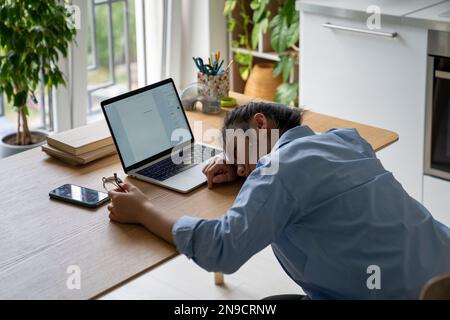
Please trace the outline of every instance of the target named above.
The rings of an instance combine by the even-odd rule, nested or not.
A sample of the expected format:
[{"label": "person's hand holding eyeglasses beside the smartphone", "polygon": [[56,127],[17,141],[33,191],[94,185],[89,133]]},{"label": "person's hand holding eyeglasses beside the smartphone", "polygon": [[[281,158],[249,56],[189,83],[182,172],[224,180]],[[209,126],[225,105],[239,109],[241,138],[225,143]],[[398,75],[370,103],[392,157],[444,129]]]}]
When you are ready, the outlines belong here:
[{"label": "person's hand holding eyeglasses beside the smartphone", "polygon": [[111,191],[111,205],[108,206],[109,218],[119,223],[142,224],[143,218],[152,204],[141,190],[131,184],[124,184],[122,188],[126,192]]}]

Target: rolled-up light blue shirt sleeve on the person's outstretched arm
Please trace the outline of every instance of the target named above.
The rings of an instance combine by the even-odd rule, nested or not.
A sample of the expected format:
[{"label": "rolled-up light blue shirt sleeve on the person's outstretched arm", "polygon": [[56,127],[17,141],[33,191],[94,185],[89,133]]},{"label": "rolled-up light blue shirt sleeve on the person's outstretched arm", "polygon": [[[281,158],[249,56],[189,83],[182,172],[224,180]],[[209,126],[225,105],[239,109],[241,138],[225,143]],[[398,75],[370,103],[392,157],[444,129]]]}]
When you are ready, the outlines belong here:
[{"label": "rolled-up light blue shirt sleeve on the person's outstretched arm", "polygon": [[222,219],[182,217],[172,234],[180,253],[210,272],[237,271],[287,225],[295,201],[277,175],[256,169]]}]

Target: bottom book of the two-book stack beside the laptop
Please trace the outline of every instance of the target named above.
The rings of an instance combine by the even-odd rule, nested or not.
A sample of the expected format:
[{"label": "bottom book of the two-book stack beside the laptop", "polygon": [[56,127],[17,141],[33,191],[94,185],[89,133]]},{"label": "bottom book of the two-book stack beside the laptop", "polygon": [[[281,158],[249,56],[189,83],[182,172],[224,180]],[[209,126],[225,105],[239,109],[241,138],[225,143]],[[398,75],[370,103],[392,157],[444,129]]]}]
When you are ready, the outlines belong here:
[{"label": "bottom book of the two-book stack beside the laptop", "polygon": [[53,148],[52,146],[49,146],[47,144],[42,146],[42,151],[70,165],[84,165],[97,159],[116,154],[116,147],[114,145],[109,145],[78,156],[71,155],[67,152]]}]

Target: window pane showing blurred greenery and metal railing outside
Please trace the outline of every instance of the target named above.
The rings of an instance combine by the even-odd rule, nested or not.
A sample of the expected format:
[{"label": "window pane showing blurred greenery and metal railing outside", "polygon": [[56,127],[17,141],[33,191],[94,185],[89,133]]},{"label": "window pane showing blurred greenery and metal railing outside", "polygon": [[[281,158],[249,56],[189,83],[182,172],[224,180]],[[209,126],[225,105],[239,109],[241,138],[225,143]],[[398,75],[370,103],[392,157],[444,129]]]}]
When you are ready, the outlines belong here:
[{"label": "window pane showing blurred greenery and metal railing outside", "polygon": [[88,5],[88,122],[102,118],[101,101],[138,88],[135,0]]}]

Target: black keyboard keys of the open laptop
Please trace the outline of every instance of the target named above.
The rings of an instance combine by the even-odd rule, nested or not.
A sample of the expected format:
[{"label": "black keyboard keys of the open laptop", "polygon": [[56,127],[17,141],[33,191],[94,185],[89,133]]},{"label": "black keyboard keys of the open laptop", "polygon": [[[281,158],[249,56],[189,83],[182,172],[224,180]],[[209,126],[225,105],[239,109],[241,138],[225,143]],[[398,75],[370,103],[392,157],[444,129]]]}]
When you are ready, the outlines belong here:
[{"label": "black keyboard keys of the open laptop", "polygon": [[[221,151],[213,148],[209,148],[202,145],[195,145],[193,148],[194,151],[186,156],[183,156],[183,162],[181,164],[175,164],[172,161],[172,157],[168,157],[164,160],[161,160],[158,163],[155,163],[141,171],[138,171],[137,174],[143,175],[145,177],[157,180],[157,181],[165,181],[183,171],[186,171],[195,165],[202,163],[205,160],[208,160],[209,155],[212,157],[221,153]],[[203,159],[203,155],[205,154],[208,158]],[[181,156],[182,154],[180,154]]]}]

